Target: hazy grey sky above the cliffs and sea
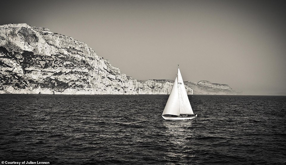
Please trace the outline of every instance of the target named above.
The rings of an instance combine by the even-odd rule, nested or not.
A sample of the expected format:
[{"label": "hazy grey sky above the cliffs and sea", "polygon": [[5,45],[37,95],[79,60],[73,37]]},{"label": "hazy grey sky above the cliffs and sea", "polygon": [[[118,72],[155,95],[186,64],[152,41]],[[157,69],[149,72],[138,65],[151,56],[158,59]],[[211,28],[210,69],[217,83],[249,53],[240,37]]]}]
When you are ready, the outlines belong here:
[{"label": "hazy grey sky above the cliffs and sea", "polygon": [[9,1],[0,24],[27,23],[85,42],[135,79],[286,92],[283,1]]}]

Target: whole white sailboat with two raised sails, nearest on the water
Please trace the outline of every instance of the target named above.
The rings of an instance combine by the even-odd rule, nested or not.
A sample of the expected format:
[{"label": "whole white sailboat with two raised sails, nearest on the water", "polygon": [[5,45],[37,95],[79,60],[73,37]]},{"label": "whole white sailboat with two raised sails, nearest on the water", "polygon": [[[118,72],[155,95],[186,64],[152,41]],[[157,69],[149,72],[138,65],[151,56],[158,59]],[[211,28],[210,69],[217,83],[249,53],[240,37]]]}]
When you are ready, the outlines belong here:
[{"label": "whole white sailboat with two raised sails, nearest on the water", "polygon": [[188,120],[197,117],[188,99],[187,91],[178,65],[178,74],[162,113],[165,120]]}]

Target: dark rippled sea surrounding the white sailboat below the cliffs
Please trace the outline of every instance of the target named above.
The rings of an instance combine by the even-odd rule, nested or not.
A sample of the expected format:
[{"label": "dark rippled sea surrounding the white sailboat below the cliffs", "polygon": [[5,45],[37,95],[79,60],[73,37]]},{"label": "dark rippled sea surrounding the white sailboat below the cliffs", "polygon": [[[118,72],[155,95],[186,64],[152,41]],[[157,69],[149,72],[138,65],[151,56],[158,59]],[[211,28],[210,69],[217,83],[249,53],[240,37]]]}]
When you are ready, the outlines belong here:
[{"label": "dark rippled sea surrounding the white sailboat below the cliffs", "polygon": [[0,161],[49,164],[286,164],[286,96],[0,95]]}]

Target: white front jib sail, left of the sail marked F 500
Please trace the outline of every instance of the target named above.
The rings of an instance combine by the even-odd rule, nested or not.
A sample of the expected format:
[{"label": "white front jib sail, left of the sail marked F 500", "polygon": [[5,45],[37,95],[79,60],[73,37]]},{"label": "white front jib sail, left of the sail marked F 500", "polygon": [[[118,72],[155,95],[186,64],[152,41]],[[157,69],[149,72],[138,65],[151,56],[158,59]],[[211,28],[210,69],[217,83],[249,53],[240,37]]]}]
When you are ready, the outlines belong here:
[{"label": "white front jib sail, left of the sail marked F 500", "polygon": [[180,102],[179,102],[177,84],[178,82],[176,78],[162,115],[164,114],[180,115]]}]

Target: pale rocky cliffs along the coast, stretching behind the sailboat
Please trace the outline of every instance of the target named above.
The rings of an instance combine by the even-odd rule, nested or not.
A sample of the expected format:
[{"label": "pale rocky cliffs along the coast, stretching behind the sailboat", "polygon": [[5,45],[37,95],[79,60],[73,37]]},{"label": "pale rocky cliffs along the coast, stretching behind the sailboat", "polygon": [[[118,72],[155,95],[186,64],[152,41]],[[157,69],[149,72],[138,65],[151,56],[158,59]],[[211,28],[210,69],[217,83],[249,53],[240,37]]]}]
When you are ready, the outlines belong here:
[{"label": "pale rocky cliffs along the coast, stretching behind the sailboat", "polygon": [[[87,44],[26,23],[0,26],[0,71],[0,93],[169,94],[174,83],[137,81]],[[186,90],[205,94],[196,93],[204,85],[187,82]]]}]

